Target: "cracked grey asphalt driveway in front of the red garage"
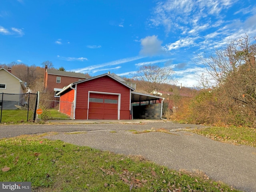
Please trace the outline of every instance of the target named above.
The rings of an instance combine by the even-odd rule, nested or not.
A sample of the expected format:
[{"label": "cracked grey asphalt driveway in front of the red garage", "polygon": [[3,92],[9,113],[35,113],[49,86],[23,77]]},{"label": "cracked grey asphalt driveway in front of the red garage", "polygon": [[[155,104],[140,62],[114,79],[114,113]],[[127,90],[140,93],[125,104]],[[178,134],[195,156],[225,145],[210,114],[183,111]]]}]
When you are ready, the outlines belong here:
[{"label": "cracked grey asphalt driveway in front of the red garage", "polygon": [[[225,182],[234,188],[255,192],[256,148],[217,142],[182,131],[196,127],[202,126],[163,121],[141,124],[121,122],[119,124],[0,126],[0,138],[20,134],[59,132],[46,138],[114,153],[142,155],[148,160],[172,169],[202,171],[210,178]],[[163,132],[133,134],[129,131],[152,128],[165,128],[170,130],[171,134]],[[79,133],[67,134],[73,131]]]}]

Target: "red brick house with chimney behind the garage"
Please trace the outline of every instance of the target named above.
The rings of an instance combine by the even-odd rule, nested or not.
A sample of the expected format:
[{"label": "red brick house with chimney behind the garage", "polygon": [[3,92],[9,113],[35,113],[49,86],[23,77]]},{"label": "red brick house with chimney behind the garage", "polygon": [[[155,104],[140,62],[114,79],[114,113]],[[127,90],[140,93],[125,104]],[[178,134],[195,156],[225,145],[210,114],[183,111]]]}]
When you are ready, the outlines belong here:
[{"label": "red brick house with chimney behind the garage", "polygon": [[59,100],[60,96],[56,96],[56,94],[60,92],[64,86],[86,78],[86,74],[83,73],[48,69],[46,65],[44,68],[44,89],[52,92],[54,100]]}]

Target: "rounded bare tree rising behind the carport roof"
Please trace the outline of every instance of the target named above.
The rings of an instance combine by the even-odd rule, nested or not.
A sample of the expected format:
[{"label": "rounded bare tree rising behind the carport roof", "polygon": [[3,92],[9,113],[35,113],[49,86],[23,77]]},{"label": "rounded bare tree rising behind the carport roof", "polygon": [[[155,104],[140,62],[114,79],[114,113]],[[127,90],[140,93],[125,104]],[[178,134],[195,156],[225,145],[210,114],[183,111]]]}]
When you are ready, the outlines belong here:
[{"label": "rounded bare tree rising behind the carport roof", "polygon": [[171,67],[160,67],[158,65],[143,65],[134,76],[134,80],[140,82],[143,89],[151,93],[162,90],[164,84],[176,84],[174,70]]}]

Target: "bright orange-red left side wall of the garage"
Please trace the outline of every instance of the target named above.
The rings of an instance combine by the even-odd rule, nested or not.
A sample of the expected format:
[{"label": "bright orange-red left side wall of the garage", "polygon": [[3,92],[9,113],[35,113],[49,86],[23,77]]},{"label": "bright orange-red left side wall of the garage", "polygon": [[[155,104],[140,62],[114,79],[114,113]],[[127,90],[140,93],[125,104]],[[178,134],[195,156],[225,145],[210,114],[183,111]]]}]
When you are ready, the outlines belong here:
[{"label": "bright orange-red left side wall of the garage", "polygon": [[70,90],[60,96],[60,112],[72,116],[72,103],[74,101],[74,90]]}]

